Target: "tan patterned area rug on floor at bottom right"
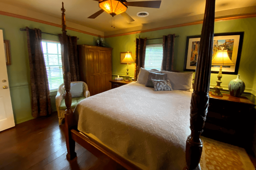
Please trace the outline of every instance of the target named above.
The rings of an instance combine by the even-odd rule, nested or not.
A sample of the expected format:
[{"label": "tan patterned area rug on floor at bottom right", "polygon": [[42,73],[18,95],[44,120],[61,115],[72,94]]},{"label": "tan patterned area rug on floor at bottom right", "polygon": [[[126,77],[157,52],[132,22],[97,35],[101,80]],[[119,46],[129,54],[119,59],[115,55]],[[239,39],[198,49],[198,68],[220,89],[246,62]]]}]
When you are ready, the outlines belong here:
[{"label": "tan patterned area rug on floor at bottom right", "polygon": [[202,170],[255,170],[244,148],[209,138],[203,140]]}]

